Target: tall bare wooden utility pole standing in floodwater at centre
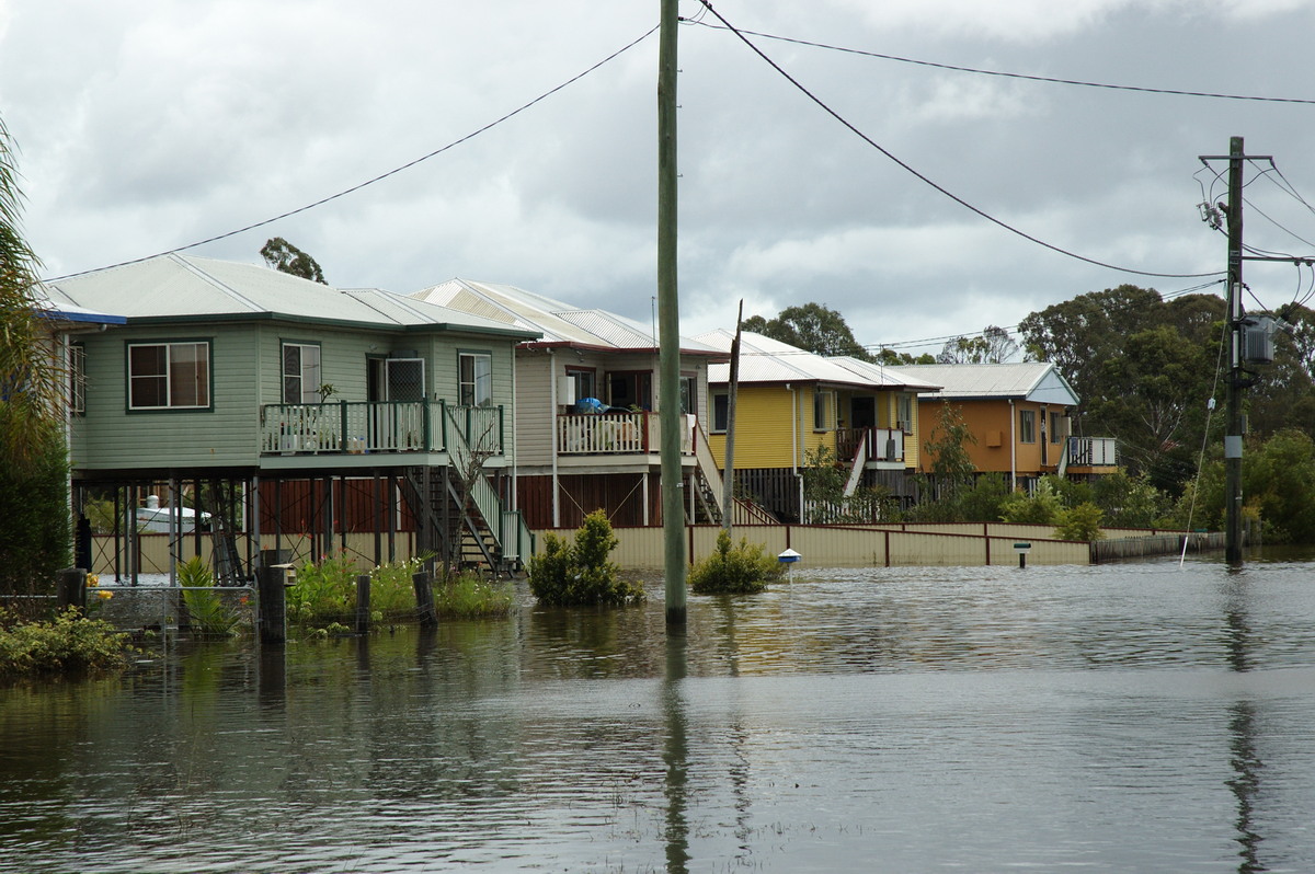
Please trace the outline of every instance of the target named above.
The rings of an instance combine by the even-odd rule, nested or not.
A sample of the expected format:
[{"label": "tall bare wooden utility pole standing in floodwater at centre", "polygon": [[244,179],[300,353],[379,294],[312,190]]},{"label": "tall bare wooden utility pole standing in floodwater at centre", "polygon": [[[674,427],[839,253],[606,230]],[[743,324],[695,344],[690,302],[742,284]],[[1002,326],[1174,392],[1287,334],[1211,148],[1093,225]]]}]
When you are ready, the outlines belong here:
[{"label": "tall bare wooden utility pole standing in floodwater at centre", "polygon": [[661,0],[658,43],[658,336],[667,628],[685,627],[685,502],[680,464],[680,306],[676,287],[677,0]]}]

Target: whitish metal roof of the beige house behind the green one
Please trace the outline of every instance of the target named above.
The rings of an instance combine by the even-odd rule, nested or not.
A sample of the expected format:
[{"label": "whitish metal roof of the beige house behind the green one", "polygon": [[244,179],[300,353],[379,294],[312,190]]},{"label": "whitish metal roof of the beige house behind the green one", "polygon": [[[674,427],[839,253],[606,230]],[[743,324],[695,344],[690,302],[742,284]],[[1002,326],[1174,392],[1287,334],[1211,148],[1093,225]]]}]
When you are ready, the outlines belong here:
[{"label": "whitish metal roof of the beige house behind the green one", "polygon": [[[650,326],[608,310],[579,309],[562,301],[526,292],[514,285],[452,279],[410,297],[452,306],[469,313],[500,313],[515,325],[543,334],[544,343],[565,343],[615,350],[652,350],[658,340]],[[715,355],[717,350],[682,336],[681,352]]]}]

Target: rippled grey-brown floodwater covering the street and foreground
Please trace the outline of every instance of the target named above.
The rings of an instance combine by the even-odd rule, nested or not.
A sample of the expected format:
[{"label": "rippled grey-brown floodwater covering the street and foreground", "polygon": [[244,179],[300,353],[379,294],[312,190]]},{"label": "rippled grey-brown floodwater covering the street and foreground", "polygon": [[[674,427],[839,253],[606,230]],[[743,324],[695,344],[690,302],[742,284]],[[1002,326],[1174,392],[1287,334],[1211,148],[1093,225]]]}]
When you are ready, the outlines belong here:
[{"label": "rippled grey-brown floodwater covering the street and foreground", "polygon": [[1315,564],[651,594],[0,691],[0,870],[1315,870]]}]

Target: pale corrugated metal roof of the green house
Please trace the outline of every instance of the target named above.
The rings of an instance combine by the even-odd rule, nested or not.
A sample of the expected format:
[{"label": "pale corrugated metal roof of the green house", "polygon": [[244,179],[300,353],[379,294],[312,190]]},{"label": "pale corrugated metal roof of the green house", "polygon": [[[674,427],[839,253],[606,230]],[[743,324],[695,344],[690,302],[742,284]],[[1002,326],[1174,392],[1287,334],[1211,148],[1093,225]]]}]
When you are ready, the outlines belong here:
[{"label": "pale corrugated metal roof of the green house", "polygon": [[160,255],[47,283],[68,304],[134,318],[204,318],[272,314],[292,319],[379,325],[446,326],[510,333],[502,321],[409,300],[380,289],[338,289],[268,267],[191,255]]}]

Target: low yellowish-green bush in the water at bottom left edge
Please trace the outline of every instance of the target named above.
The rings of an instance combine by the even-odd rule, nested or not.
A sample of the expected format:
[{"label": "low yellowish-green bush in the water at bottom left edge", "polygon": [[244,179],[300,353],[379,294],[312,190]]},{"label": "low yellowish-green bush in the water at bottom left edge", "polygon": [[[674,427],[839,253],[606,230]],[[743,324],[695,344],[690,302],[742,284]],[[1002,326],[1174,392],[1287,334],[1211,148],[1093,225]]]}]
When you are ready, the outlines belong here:
[{"label": "low yellowish-green bush in the water at bottom left edge", "polygon": [[122,670],[135,652],[129,635],[84,619],[76,607],[46,622],[18,623],[0,611],[0,679]]}]

